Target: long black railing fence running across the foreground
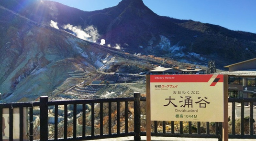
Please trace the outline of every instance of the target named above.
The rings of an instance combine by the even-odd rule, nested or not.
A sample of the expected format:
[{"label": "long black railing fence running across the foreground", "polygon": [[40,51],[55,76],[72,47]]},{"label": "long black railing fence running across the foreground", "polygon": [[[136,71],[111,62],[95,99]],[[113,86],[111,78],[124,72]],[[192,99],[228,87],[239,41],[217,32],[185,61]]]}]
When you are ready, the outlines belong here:
[{"label": "long black railing fence running across the foreground", "polygon": [[[145,100],[145,97],[140,97],[140,93],[134,93],[134,97],[130,98],[48,101],[48,97],[40,97],[40,101],[37,102],[2,103],[0,104],[0,121],[3,121],[4,115],[6,117],[7,114],[8,123],[5,120],[0,122],[0,126],[8,127],[9,130],[0,128],[0,141],[5,139],[10,141],[39,139],[40,141],[85,141],[126,136],[134,136],[134,141],[140,141],[140,136],[146,135],[144,130]],[[256,99],[229,98],[232,105],[229,138],[256,138],[253,119],[253,102],[255,101]],[[247,108],[246,104],[249,103],[248,121],[239,121],[235,117],[236,103],[241,103],[241,119],[245,119],[245,107]],[[40,113],[36,112],[36,107],[40,108]],[[63,107],[64,110],[59,109],[60,107]],[[4,109],[7,109],[8,113],[5,113]],[[28,111],[28,119],[23,117],[26,111]],[[18,121],[15,121],[17,113]],[[34,117],[36,114],[40,115],[40,125],[37,128],[35,128],[37,123]],[[53,124],[49,123],[50,114],[54,115]],[[64,120],[59,121],[62,114]],[[26,120],[27,122],[24,122]],[[236,128],[238,122],[239,131]],[[204,124],[204,128],[201,128],[202,124]],[[26,130],[24,127],[27,125],[28,129]],[[38,127],[40,127],[40,134],[35,130],[39,129]],[[195,127],[197,128],[195,129]],[[222,123],[152,121],[151,136],[218,138],[221,141]]]}]

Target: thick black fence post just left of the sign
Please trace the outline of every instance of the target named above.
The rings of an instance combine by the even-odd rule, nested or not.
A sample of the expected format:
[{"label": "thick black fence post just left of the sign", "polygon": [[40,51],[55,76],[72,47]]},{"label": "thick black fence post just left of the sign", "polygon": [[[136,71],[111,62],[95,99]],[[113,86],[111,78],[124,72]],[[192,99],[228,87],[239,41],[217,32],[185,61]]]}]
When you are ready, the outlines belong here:
[{"label": "thick black fence post just left of the sign", "polygon": [[134,141],[141,141],[140,137],[140,126],[141,126],[141,104],[140,104],[140,93],[134,92]]}]

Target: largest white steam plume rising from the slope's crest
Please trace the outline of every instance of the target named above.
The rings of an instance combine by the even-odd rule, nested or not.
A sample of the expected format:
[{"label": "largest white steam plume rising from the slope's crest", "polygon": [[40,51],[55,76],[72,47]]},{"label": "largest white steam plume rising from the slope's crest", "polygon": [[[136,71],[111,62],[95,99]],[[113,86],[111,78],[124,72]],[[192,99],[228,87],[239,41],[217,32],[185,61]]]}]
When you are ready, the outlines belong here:
[{"label": "largest white steam plume rising from the slope's crest", "polygon": [[88,26],[86,29],[82,30],[80,26],[73,26],[71,24],[67,24],[63,27],[65,30],[71,30],[78,38],[83,40],[88,40],[91,42],[96,42],[99,39],[98,30],[94,28],[92,25]]}]

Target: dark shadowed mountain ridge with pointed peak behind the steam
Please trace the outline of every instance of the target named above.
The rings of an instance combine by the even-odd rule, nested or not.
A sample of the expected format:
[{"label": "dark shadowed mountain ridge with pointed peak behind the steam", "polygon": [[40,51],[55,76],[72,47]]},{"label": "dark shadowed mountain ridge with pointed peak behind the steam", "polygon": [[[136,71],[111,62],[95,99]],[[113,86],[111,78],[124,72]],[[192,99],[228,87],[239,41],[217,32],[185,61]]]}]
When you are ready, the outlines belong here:
[{"label": "dark shadowed mountain ridge with pointed peak behind the steam", "polygon": [[[41,0],[2,0],[0,4],[38,23],[47,25],[53,20],[60,29],[67,24],[81,29],[93,25],[100,34],[97,42],[104,39],[111,46],[119,44],[129,53],[187,61],[194,58],[193,61],[201,64],[214,58],[218,67],[256,57],[256,34],[158,16],[142,0],[122,0],[116,6],[96,11]],[[189,55],[191,53],[200,59]]]}]

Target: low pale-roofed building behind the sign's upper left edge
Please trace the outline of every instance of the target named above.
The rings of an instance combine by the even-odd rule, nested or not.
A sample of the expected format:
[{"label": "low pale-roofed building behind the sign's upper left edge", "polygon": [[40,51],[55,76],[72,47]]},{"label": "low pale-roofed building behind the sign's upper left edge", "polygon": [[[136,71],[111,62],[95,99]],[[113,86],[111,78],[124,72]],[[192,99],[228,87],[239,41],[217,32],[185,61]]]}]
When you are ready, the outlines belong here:
[{"label": "low pale-roofed building behind the sign's upper left edge", "polygon": [[175,68],[161,68],[157,67],[154,70],[148,71],[150,74],[181,74],[181,70]]}]

